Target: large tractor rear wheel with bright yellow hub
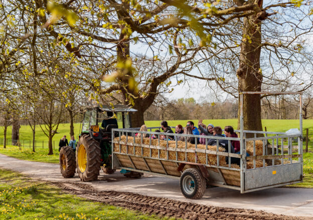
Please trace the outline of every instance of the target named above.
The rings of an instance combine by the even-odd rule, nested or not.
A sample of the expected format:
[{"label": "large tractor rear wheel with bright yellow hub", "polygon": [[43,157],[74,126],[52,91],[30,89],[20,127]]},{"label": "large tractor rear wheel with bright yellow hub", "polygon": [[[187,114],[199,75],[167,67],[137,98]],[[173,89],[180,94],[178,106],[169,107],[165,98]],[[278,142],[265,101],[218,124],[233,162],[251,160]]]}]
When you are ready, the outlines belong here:
[{"label": "large tractor rear wheel with bright yellow hub", "polygon": [[81,181],[97,180],[101,165],[101,149],[99,143],[82,135],[79,138],[76,150],[77,173]]}]

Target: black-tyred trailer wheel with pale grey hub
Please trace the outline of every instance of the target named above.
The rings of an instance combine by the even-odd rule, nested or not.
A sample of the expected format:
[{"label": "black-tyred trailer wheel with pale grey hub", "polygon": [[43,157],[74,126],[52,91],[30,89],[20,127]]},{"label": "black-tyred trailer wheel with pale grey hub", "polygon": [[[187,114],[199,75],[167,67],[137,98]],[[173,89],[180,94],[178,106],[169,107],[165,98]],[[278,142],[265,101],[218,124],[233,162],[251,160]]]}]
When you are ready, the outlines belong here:
[{"label": "black-tyred trailer wheel with pale grey hub", "polygon": [[186,198],[199,199],[206,188],[205,179],[195,168],[186,169],[180,176],[180,190]]}]

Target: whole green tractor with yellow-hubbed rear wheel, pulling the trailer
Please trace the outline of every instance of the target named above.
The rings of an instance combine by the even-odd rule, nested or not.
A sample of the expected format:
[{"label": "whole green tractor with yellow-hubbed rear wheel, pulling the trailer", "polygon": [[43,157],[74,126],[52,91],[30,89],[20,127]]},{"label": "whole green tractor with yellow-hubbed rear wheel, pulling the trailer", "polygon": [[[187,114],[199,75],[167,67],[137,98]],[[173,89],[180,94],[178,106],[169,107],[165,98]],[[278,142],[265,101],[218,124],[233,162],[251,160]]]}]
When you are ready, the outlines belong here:
[{"label": "whole green tractor with yellow-hubbed rear wheel, pulling the trailer", "polygon": [[131,113],[134,112],[137,110],[126,105],[85,108],[76,156],[69,146],[60,150],[62,176],[73,177],[75,168],[81,181],[97,180],[100,168],[105,173],[113,173],[112,129],[131,128]]}]

